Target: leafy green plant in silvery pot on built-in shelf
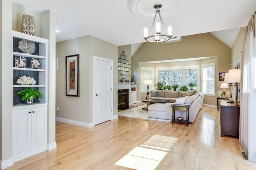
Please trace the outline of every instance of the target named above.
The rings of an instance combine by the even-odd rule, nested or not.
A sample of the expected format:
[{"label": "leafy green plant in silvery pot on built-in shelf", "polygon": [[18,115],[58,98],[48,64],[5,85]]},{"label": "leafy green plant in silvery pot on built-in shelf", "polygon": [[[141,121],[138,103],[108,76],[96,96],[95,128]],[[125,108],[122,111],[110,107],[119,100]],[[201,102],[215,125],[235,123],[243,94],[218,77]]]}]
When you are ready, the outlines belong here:
[{"label": "leafy green plant in silvery pot on built-in shelf", "polygon": [[21,95],[21,100],[27,100],[27,104],[32,104],[33,99],[42,98],[40,92],[36,88],[31,87],[27,87],[27,89],[24,89],[17,94]]}]

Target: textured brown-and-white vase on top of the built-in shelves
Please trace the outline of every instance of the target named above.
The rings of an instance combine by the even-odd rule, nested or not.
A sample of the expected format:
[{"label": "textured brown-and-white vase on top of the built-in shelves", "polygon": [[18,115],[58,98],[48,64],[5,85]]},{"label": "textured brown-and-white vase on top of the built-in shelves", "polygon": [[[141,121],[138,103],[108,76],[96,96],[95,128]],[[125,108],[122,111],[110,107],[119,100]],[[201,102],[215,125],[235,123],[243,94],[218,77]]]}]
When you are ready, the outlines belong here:
[{"label": "textured brown-and-white vase on top of the built-in shelves", "polygon": [[21,32],[29,35],[35,34],[35,19],[30,15],[23,15],[21,22]]}]

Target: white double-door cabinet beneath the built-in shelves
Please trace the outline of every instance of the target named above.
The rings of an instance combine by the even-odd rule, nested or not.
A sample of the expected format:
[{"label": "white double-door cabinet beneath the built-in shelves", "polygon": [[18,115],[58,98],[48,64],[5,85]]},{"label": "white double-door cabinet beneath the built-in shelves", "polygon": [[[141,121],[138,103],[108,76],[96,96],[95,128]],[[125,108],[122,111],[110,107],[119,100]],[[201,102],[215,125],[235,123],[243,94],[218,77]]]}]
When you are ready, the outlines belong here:
[{"label": "white double-door cabinet beneath the built-in shelves", "polygon": [[[15,107],[12,111],[12,118],[12,152],[16,161],[19,160],[19,157],[15,157],[16,154],[32,149],[32,152],[36,154],[35,152],[42,146],[46,149],[47,106],[24,109]],[[24,153],[23,158],[31,156],[28,154],[28,152]]]}]

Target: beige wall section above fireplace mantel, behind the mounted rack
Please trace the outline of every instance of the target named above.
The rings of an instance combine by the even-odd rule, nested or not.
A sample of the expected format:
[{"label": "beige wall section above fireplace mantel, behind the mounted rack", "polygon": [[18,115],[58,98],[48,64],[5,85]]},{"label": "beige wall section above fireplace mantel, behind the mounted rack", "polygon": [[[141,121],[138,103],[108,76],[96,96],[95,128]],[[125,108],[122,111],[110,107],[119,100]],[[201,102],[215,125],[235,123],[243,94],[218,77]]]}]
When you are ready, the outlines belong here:
[{"label": "beige wall section above fireplace mantel, behind the mounted rack", "polygon": [[[122,51],[125,52],[125,55],[127,56],[127,59],[129,60],[129,64],[132,64],[132,45],[122,45],[118,46],[118,57],[120,54],[122,54]],[[118,71],[118,78],[117,81],[121,82],[122,75],[119,74],[120,72]],[[129,72],[127,72],[127,75],[125,76],[125,80],[130,80],[130,73],[131,69],[129,69]]]}]

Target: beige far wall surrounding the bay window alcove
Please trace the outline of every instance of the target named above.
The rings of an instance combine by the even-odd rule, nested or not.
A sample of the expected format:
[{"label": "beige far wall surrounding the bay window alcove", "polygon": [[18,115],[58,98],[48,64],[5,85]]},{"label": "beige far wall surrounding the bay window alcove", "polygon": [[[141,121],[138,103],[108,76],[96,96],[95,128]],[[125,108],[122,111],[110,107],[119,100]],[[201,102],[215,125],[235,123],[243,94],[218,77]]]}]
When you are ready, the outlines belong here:
[{"label": "beige far wall surrounding the bay window alcove", "polygon": [[[230,69],[231,49],[210,33],[185,36],[182,37],[182,41],[174,43],[144,43],[132,56],[132,74],[135,74],[135,83],[139,85],[140,62],[214,56],[216,57],[211,59],[216,62],[216,96],[205,96],[204,104],[216,106],[216,97],[220,96],[221,84],[218,81],[218,74]],[[138,89],[137,100],[142,100],[145,96],[141,95],[139,91]]]}]

